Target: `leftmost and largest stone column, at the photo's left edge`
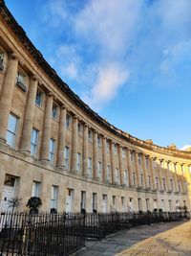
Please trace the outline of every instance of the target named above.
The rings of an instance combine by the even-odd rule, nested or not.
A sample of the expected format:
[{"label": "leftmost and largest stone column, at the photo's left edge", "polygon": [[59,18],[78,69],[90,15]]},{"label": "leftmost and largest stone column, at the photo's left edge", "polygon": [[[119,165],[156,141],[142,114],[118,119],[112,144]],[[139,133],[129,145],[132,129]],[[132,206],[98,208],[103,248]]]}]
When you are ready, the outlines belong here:
[{"label": "leftmost and largest stone column, at the photo's left edge", "polygon": [[11,54],[0,99],[0,141],[6,142],[11,100],[18,70],[18,57]]}]

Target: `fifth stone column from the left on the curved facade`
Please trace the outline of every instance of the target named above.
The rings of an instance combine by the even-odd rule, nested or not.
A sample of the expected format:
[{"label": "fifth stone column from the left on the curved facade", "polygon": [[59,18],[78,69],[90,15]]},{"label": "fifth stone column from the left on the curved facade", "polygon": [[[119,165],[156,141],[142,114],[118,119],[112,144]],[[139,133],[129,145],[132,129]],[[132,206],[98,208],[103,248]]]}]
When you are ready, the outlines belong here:
[{"label": "fifth stone column from the left on the curved facade", "polygon": [[76,173],[77,171],[77,128],[78,128],[78,120],[77,117],[73,117],[73,136],[72,136],[72,165],[71,171]]}]

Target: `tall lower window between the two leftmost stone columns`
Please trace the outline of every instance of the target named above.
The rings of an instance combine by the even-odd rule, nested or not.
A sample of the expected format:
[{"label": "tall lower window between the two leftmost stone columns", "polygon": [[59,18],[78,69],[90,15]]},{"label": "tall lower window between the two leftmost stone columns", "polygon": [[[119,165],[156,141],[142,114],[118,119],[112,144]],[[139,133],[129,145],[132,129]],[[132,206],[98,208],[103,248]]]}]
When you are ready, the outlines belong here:
[{"label": "tall lower window between the two leftmost stone columns", "polygon": [[18,126],[18,118],[16,116],[10,114],[9,121],[8,121],[6,140],[7,140],[7,144],[10,145],[11,148],[15,147],[17,126]]}]

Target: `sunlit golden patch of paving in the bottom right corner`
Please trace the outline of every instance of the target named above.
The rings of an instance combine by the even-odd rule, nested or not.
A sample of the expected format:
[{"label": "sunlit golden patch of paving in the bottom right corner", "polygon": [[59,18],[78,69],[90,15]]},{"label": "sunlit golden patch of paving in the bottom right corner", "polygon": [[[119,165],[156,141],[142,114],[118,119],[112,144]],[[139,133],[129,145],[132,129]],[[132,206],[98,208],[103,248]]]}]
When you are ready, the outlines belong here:
[{"label": "sunlit golden patch of paving in the bottom right corner", "polygon": [[191,221],[146,239],[117,256],[190,256]]}]

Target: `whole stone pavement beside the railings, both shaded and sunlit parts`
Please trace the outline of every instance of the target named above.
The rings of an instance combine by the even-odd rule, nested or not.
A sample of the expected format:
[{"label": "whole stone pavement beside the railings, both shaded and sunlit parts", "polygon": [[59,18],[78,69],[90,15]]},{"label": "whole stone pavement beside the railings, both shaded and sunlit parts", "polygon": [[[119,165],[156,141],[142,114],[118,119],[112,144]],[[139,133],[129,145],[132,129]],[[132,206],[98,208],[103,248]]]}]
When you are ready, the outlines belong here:
[{"label": "whole stone pavement beside the railings, both shaded and sunlit parts", "polygon": [[191,256],[191,221],[155,223],[88,240],[75,256]]}]

